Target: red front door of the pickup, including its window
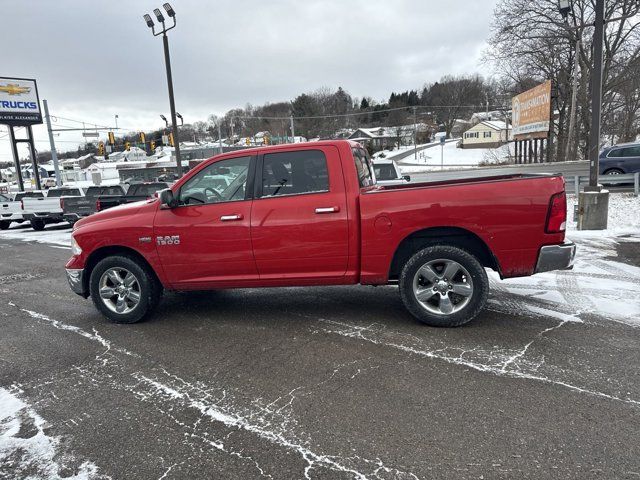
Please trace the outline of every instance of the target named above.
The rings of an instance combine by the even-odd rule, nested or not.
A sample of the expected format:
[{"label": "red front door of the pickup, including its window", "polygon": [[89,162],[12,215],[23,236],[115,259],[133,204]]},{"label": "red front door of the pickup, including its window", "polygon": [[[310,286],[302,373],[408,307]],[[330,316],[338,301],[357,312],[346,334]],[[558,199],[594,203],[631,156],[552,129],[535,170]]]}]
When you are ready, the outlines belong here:
[{"label": "red front door of the pickup, including its window", "polygon": [[236,286],[258,278],[247,193],[254,163],[250,156],[214,162],[175,192],[177,207],[158,210],[153,241],[174,288]]}]

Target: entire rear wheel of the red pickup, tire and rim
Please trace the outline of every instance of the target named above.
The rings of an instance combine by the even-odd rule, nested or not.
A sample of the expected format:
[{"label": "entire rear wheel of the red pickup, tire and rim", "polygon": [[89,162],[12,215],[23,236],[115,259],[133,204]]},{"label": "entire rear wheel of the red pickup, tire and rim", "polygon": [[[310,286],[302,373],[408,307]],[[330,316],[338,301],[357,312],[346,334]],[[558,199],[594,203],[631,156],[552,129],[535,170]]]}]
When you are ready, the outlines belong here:
[{"label": "entire rear wheel of the red pickup, tire and rim", "polygon": [[476,257],[457,247],[434,246],[413,255],[400,274],[409,312],[433,327],[459,327],[487,302],[489,280]]}]

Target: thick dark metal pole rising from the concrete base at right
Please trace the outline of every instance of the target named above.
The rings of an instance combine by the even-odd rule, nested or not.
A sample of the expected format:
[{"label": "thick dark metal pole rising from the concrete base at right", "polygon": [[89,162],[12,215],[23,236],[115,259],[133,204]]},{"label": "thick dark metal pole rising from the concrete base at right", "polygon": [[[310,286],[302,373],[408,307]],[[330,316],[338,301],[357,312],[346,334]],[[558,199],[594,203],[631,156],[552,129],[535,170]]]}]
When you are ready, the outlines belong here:
[{"label": "thick dark metal pole rising from the concrete base at right", "polygon": [[605,0],[596,0],[596,21],[593,34],[593,76],[591,82],[591,134],[589,136],[589,187],[586,191],[599,192],[598,168],[600,156],[600,125],[602,116],[602,61],[604,47]]}]

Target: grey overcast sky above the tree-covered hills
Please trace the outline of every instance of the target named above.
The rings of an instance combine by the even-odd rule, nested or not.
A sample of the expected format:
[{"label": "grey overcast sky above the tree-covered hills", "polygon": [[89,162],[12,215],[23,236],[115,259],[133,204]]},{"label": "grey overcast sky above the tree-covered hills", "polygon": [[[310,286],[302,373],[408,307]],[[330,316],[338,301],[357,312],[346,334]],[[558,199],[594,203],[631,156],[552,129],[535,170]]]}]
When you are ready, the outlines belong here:
[{"label": "grey overcast sky above the tree-covered hills", "polygon": [[[185,122],[322,86],[385,100],[446,74],[487,74],[480,57],[497,0],[174,0],[169,33]],[[131,130],[169,116],[161,0],[20,0],[2,5],[2,76],[36,78],[52,115]],[[60,123],[62,120],[60,120]],[[67,122],[68,124],[68,122]],[[2,127],[4,130],[4,127]],[[37,148],[46,130],[35,127]],[[81,134],[56,137],[59,150]],[[0,132],[0,161],[11,159]]]}]

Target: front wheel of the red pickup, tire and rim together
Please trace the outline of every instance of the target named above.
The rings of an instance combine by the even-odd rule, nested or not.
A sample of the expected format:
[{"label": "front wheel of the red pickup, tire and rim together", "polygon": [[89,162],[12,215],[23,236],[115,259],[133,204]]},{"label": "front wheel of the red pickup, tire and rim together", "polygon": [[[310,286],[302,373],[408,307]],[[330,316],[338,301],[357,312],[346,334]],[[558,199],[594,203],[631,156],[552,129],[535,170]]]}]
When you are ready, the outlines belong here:
[{"label": "front wheel of the red pickup, tire and rim together", "polygon": [[143,320],[162,296],[162,286],[148,267],[124,255],[98,262],[89,287],[96,308],[114,323]]}]

